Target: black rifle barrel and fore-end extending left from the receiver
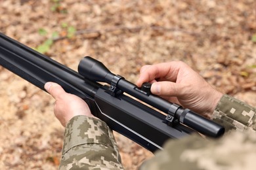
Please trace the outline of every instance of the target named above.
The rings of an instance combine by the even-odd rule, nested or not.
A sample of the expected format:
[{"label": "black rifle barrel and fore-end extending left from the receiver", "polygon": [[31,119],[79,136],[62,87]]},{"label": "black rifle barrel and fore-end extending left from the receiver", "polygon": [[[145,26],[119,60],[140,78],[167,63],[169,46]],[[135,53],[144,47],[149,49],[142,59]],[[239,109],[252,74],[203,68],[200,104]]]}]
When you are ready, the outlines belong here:
[{"label": "black rifle barrel and fore-end extending left from the receiver", "polygon": [[45,90],[46,82],[52,81],[60,84],[66,92],[86,99],[93,97],[100,87],[100,84],[85,80],[79,73],[3,33],[0,33],[0,63],[41,90]]}]

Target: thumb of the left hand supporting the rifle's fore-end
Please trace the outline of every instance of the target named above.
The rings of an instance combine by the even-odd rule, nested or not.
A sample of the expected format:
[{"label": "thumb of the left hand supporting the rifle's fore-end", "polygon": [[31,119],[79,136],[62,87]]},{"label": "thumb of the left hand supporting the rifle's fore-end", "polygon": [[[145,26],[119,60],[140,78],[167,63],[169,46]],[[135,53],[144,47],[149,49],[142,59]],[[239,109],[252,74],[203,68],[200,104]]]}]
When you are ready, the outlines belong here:
[{"label": "thumb of the left hand supporting the rifle's fore-end", "polygon": [[66,94],[62,86],[54,82],[45,83],[45,90],[47,90],[47,92],[50,93],[54,99],[59,99]]}]

